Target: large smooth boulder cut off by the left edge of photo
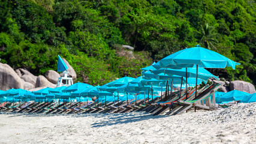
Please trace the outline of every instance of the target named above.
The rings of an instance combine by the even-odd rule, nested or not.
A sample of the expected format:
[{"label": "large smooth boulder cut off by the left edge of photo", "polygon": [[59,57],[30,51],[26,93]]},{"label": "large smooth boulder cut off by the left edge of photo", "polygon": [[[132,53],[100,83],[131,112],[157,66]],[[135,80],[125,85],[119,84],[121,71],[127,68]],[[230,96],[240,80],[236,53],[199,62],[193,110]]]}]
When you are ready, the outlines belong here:
[{"label": "large smooth boulder cut off by the left edge of photo", "polygon": [[23,80],[17,73],[7,64],[0,63],[0,89],[6,91],[8,89],[23,89]]}]

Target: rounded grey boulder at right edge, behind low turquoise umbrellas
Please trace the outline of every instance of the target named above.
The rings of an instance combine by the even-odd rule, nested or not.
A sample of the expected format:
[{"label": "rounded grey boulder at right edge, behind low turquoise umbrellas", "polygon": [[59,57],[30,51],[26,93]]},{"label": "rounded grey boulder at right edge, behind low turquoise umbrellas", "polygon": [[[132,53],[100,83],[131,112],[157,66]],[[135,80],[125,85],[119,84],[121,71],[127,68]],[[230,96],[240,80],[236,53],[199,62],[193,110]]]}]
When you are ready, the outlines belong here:
[{"label": "rounded grey boulder at right edge, behind low turquoise umbrellas", "polygon": [[254,94],[256,92],[254,85],[248,82],[244,82],[242,80],[235,80],[230,82],[230,91],[234,89],[238,91],[248,92],[249,94]]}]

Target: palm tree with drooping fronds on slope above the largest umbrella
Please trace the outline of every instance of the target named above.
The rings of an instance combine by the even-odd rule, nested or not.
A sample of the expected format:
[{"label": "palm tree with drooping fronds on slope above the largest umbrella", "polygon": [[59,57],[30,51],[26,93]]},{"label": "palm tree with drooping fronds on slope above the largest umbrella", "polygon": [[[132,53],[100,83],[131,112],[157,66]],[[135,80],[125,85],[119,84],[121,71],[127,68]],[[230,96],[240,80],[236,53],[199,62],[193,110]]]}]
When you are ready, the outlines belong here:
[{"label": "palm tree with drooping fronds on slope above the largest umbrella", "polygon": [[215,46],[218,45],[218,40],[216,39],[218,33],[213,26],[209,26],[208,23],[203,26],[201,25],[201,31],[199,33],[202,37],[201,43],[203,43],[207,49],[216,49]]}]

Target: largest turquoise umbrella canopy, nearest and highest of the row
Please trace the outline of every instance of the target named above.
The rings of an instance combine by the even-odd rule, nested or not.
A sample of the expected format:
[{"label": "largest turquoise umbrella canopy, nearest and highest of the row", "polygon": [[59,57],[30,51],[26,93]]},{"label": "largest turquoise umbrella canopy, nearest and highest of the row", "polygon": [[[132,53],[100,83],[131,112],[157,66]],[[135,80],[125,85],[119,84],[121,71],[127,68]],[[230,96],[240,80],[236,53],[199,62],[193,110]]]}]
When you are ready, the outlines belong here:
[{"label": "largest turquoise umbrella canopy, nearest and highest of the row", "polygon": [[236,65],[240,64],[219,53],[197,45],[175,52],[160,60],[160,67],[172,68],[173,65],[177,67],[194,67],[194,65],[198,65],[198,67],[204,68],[232,67],[235,69]]}]

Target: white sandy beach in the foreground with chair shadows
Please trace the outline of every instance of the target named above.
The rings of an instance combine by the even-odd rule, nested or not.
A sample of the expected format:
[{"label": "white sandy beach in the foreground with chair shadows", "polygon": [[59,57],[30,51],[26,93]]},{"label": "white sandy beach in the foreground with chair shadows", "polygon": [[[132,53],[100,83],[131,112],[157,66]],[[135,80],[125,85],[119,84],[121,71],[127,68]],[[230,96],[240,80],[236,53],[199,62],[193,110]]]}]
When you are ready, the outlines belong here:
[{"label": "white sandy beach in the foreground with chair shadows", "polygon": [[256,103],[176,116],[0,114],[0,143],[256,143]]}]

